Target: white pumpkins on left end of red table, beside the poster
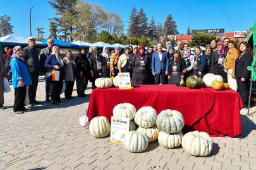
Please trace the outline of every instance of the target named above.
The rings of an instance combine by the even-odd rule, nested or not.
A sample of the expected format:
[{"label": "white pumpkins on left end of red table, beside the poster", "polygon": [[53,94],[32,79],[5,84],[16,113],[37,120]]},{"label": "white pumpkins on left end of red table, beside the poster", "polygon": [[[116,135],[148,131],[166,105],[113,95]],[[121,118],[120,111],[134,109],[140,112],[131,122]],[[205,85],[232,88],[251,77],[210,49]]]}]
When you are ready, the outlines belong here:
[{"label": "white pumpkins on left end of red table, beside the poster", "polygon": [[[106,89],[106,88],[111,88],[112,86],[116,86],[116,88],[119,88],[119,77],[111,77],[109,78],[98,78],[95,80],[95,86],[99,89]],[[133,89],[133,87],[129,88]]]}]

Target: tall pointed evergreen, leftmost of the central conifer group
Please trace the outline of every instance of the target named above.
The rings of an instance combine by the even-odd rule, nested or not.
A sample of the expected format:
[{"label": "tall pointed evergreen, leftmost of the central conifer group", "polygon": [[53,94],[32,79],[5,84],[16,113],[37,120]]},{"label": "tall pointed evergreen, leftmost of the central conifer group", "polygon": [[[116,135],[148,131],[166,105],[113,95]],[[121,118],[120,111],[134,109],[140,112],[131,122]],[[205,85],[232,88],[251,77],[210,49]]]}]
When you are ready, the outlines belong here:
[{"label": "tall pointed evergreen, leftmost of the central conifer group", "polygon": [[138,38],[139,23],[138,23],[137,14],[138,14],[137,9],[135,8],[135,6],[133,6],[133,9],[131,9],[131,15],[129,17],[130,21],[128,22],[128,23],[130,23],[130,25],[128,25],[128,30],[126,30],[126,31],[128,31],[129,37],[134,36],[134,37]]}]

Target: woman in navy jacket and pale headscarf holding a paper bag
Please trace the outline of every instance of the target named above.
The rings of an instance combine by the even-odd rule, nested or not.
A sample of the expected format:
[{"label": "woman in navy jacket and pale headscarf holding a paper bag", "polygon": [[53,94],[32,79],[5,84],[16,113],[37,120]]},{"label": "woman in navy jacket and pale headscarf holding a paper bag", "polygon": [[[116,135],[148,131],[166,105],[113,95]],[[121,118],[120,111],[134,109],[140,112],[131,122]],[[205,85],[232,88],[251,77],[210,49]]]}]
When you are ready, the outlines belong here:
[{"label": "woman in navy jacket and pale headscarf holding a paper bag", "polygon": [[59,48],[59,46],[52,47],[52,53],[47,57],[46,63],[44,64],[46,68],[49,68],[49,71],[59,71],[59,80],[50,80],[50,96],[52,104],[54,105],[59,105],[63,103],[63,101],[61,101],[60,99],[61,91],[63,88],[63,80],[65,79],[65,63],[61,59],[60,51],[61,49]]}]

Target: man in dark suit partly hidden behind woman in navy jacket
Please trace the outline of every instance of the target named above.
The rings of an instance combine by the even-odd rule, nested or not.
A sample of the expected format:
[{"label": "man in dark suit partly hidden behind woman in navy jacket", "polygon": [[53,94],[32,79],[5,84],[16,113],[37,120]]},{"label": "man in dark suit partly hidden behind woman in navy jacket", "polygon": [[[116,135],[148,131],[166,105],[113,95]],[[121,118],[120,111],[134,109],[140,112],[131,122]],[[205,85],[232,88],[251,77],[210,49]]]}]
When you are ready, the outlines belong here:
[{"label": "man in dark suit partly hidden behind woman in navy jacket", "polygon": [[[47,45],[48,47],[41,50],[40,57],[39,57],[42,75],[45,75],[48,70],[46,67],[44,67],[44,64],[46,63],[47,57],[52,53],[54,40],[52,39],[47,40]],[[46,80],[46,101],[49,101],[49,98],[50,98],[50,81]]]}]

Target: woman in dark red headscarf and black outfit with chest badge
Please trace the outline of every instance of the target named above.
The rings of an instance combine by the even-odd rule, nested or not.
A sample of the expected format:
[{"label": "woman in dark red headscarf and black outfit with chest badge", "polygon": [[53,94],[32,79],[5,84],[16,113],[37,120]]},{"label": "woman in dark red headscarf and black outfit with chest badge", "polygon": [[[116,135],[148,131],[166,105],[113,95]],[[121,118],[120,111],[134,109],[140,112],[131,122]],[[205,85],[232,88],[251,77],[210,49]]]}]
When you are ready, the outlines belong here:
[{"label": "woman in dark red headscarf and black outfit with chest badge", "polygon": [[133,57],[133,84],[149,84],[150,62],[145,47],[140,45]]}]

